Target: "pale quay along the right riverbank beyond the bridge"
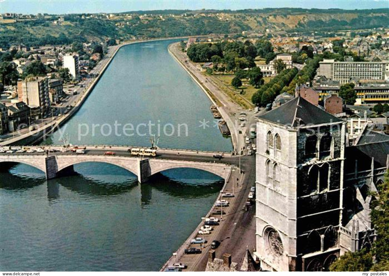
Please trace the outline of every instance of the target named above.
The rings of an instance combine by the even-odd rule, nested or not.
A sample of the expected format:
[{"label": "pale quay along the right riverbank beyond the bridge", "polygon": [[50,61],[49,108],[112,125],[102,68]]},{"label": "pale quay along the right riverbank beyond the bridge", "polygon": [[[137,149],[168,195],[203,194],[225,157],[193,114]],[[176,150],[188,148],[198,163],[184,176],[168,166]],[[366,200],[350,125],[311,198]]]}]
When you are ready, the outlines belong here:
[{"label": "pale quay along the right riverbank beyond the bridge", "polygon": [[[170,44],[168,47],[169,53],[175,58],[175,60],[186,70],[187,73],[195,80],[198,86],[204,91],[214,105],[217,106],[219,113],[226,121],[228,129],[231,132],[231,140],[233,143],[234,152],[240,153],[244,150],[244,135],[249,129],[250,125],[254,123],[254,112],[245,110],[236,103],[232,102],[228,95],[219,89],[207,76],[203,75],[198,70],[195,64],[193,64],[186,53],[182,52],[179,43]],[[245,112],[250,120],[247,121],[247,125],[240,126],[240,113]]]}]

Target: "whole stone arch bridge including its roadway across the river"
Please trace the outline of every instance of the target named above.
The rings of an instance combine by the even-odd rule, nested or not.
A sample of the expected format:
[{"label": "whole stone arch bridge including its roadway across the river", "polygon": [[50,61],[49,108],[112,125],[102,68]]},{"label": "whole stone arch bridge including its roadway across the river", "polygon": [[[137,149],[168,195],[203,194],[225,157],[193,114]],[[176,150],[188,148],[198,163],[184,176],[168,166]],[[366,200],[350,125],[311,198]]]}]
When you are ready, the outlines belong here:
[{"label": "whole stone arch bridge including its roadway across the river", "polygon": [[[78,146],[79,148],[84,146]],[[18,147],[11,147],[16,150]],[[38,149],[42,147],[24,147]],[[156,157],[136,157],[128,152],[129,147],[117,146],[86,146],[85,154],[71,151],[61,152],[63,147],[45,147],[44,153],[0,153],[0,168],[2,162],[18,162],[40,169],[47,179],[55,178],[63,169],[72,169],[73,165],[82,162],[105,162],[127,169],[138,176],[140,183],[146,182],[155,173],[174,168],[195,168],[209,171],[224,180],[230,175],[232,166],[239,165],[239,157],[230,153],[198,152],[192,150],[159,149]],[[7,149],[7,148],[4,148]],[[56,150],[49,152],[47,150]],[[105,155],[112,151],[115,155]],[[222,159],[214,158],[214,154],[223,154]],[[242,162],[246,159],[242,157]]]}]

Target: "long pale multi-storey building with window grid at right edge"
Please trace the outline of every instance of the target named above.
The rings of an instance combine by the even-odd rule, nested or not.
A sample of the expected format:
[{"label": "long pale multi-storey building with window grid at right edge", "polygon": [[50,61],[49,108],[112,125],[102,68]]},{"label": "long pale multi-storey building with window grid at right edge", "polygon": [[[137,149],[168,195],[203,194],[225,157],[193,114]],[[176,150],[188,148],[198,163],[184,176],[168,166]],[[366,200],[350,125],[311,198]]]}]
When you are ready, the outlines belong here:
[{"label": "long pale multi-storey building with window grid at right edge", "polygon": [[340,84],[350,82],[352,78],[360,80],[389,80],[389,61],[354,62],[324,59],[319,62],[320,75]]}]

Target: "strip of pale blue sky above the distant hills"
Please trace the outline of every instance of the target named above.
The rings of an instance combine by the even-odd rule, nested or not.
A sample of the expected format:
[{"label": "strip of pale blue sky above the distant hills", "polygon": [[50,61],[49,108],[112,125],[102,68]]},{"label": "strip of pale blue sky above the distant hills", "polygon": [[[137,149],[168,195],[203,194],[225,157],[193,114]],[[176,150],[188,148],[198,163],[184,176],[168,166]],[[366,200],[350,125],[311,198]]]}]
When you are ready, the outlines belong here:
[{"label": "strip of pale blue sky above the distant hills", "polygon": [[267,7],[377,9],[388,8],[389,0],[0,0],[0,13],[64,14],[124,12],[160,9],[261,9]]}]

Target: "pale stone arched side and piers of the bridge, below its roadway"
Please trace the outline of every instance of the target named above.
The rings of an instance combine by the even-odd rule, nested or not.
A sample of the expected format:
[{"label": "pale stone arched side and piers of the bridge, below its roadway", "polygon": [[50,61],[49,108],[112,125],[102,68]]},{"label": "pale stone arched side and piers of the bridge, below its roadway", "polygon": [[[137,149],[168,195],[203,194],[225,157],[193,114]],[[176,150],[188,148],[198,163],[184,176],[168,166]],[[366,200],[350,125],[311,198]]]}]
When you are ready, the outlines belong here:
[{"label": "pale stone arched side and piers of the bridge, below its roadway", "polygon": [[[27,164],[40,169],[46,174],[46,179],[56,178],[58,173],[73,165],[83,162],[103,162],[124,168],[138,177],[138,182],[144,183],[148,178],[156,173],[174,168],[195,168],[208,171],[224,180],[228,179],[232,162],[215,162],[212,157],[204,161],[145,158],[141,159],[133,156],[107,156],[96,154],[0,154],[0,168],[4,162],[16,162]],[[223,159],[222,159],[223,160]]]}]

